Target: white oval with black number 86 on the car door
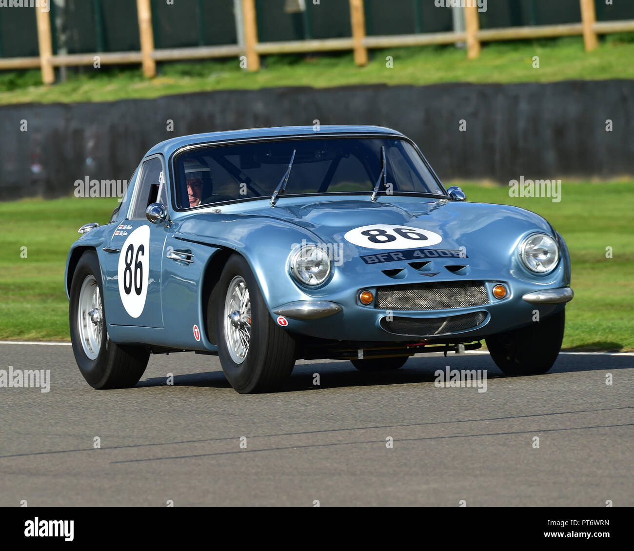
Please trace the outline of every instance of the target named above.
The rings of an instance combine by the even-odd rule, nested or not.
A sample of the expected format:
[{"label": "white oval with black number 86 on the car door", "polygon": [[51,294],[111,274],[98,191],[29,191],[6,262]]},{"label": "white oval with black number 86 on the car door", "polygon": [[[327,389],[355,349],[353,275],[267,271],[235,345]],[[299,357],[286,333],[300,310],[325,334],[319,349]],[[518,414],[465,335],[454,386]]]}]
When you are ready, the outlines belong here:
[{"label": "white oval with black number 86 on the car door", "polygon": [[126,312],[138,318],[145,308],[150,268],[150,226],[139,226],[126,239],[119,254],[119,295]]}]

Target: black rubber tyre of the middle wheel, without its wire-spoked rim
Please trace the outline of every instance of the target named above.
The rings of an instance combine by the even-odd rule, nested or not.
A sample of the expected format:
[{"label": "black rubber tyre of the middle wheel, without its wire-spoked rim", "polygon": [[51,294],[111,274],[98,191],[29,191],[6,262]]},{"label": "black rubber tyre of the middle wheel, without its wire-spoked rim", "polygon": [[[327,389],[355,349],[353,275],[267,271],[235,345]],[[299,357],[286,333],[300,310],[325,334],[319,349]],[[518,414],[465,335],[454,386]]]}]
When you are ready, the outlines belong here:
[{"label": "black rubber tyre of the middle wheel, without its wire-spoked rim", "polygon": [[[224,323],[227,293],[236,277],[243,278],[250,299],[249,349],[242,363],[231,357]],[[279,390],[295,366],[297,342],[271,318],[249,263],[242,256],[234,254],[228,259],[214,295],[215,308],[207,311],[216,316],[218,356],[231,386],[240,394]]]}]

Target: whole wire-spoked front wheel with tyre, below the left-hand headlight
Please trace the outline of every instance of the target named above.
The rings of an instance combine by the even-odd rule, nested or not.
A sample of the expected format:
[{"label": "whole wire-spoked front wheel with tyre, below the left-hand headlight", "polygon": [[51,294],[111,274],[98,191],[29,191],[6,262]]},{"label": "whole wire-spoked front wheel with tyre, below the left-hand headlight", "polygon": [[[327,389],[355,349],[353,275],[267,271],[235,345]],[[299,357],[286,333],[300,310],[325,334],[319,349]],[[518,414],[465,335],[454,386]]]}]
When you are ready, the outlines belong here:
[{"label": "whole wire-spoked front wheel with tyre, below the left-hand headlight", "polygon": [[[231,256],[217,283],[217,346],[223,372],[240,394],[280,389],[295,365],[294,337],[276,325],[249,264]],[[209,324],[208,324],[209,325]]]}]

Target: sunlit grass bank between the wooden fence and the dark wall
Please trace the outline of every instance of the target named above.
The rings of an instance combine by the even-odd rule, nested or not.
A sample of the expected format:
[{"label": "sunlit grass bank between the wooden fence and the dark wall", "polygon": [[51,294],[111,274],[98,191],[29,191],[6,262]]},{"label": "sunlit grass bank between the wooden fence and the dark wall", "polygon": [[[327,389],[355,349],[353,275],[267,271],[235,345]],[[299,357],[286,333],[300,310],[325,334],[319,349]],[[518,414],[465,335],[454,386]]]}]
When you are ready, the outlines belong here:
[{"label": "sunlit grass bank between the wooden fence and the dark wall", "polygon": [[[387,56],[392,56],[394,67],[386,67]],[[533,68],[533,56],[540,57],[540,68]],[[82,68],[69,70],[68,80],[55,86],[39,86],[39,71],[4,72],[0,104],[113,101],[274,86],[632,79],[634,33],[609,36],[590,53],[584,51],[581,37],[567,37],[493,42],[482,48],[477,60],[467,60],[465,50],[454,46],[427,46],[373,51],[366,67],[356,67],[352,53],[336,53],[268,56],[257,73],[241,69],[237,58],[164,63],[159,72],[155,79],[144,79],[137,66]]]}]

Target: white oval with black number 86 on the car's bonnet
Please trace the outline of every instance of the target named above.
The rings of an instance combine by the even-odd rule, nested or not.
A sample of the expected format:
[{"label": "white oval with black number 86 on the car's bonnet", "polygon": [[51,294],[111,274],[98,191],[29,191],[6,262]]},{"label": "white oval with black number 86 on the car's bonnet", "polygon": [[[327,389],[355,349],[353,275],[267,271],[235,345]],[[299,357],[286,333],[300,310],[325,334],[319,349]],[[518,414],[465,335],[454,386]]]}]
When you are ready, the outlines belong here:
[{"label": "white oval with black number 86 on the car's bonnet", "polygon": [[419,249],[436,245],[443,240],[433,231],[393,224],[361,226],[348,231],[344,238],[367,249]]}]

